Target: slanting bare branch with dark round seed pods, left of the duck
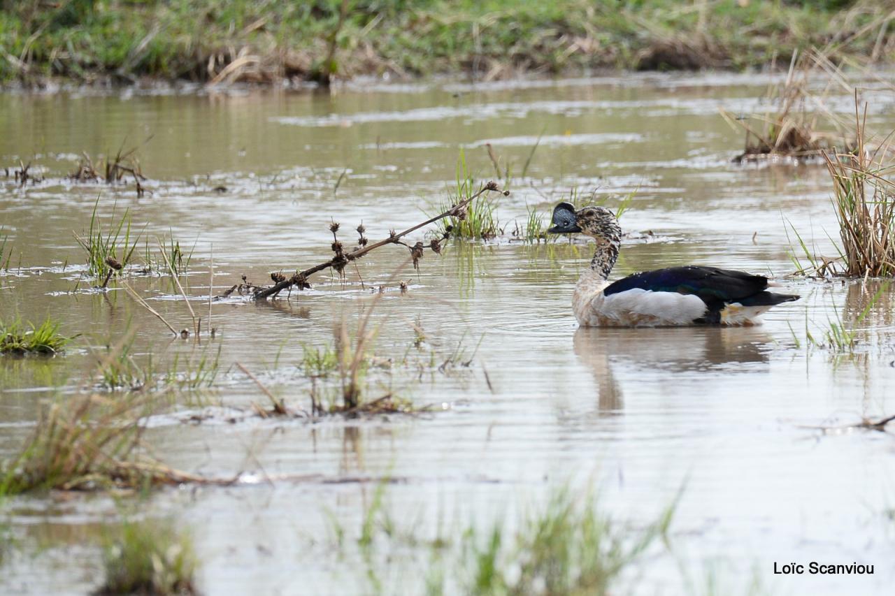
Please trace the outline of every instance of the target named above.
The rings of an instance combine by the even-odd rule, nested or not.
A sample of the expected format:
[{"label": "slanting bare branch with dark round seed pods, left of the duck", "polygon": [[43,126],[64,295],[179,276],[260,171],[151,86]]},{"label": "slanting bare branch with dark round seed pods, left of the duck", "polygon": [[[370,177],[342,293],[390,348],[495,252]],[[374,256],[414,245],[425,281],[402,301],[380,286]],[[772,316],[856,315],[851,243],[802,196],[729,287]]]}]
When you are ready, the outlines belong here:
[{"label": "slanting bare branch with dark round seed pods, left of the duck", "polygon": [[[509,195],[509,191],[501,191],[498,187],[498,183],[489,182],[482,186],[478,192],[475,192],[468,199],[461,200],[459,203],[447,209],[444,213],[441,213],[435,217],[430,217],[426,221],[422,222],[422,224],[417,224],[416,226],[409,227],[403,232],[395,232],[392,230],[388,234],[388,238],[384,240],[380,240],[378,243],[370,244],[367,238],[363,235],[366,231],[363,225],[357,226],[357,233],[359,234],[359,239],[357,241],[357,248],[353,251],[345,251],[345,247],[339,242],[336,233],[338,232],[339,225],[334,221],[329,225],[329,231],[333,234],[333,243],[332,243],[332,251],[335,253],[332,259],[320,263],[319,265],[315,265],[311,268],[304,269],[303,271],[296,271],[294,276],[285,277],[281,274],[277,274],[277,277],[272,277],[276,282],[274,285],[266,288],[258,288],[255,290],[253,297],[255,300],[264,300],[270,296],[276,296],[283,290],[292,287],[293,285],[297,286],[300,290],[311,287],[308,284],[308,277],[311,275],[322,271],[323,269],[333,268],[340,275],[342,271],[345,269],[345,265],[350,262],[356,261],[360,259],[362,256],[367,254],[370,251],[375,251],[376,249],[386,246],[387,244],[403,244],[408,249],[410,249],[411,257],[413,258],[413,267],[419,268],[419,261],[422,259],[422,253],[425,248],[429,248],[431,251],[440,254],[441,252],[441,242],[447,239],[447,234],[445,234],[441,238],[433,239],[428,245],[423,243],[415,243],[413,246],[405,244],[401,242],[401,238],[403,238],[407,234],[412,234],[413,232],[419,230],[421,227],[429,226],[433,224],[439,219],[444,219],[445,217],[457,217],[459,219],[463,219],[466,214],[466,209],[469,207],[469,204],[473,202],[473,200],[478,199],[485,192],[502,192],[504,195]],[[282,277],[282,278],[280,278]]]}]

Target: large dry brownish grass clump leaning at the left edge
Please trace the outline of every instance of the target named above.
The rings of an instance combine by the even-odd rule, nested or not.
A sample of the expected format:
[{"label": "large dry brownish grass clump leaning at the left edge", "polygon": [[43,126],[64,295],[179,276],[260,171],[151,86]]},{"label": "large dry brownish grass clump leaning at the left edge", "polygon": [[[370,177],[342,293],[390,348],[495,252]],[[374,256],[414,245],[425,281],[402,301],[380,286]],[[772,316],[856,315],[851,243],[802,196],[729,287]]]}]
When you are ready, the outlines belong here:
[{"label": "large dry brownish grass clump leaning at the left edge", "polygon": [[200,481],[141,450],[142,420],[157,403],[152,394],[139,392],[55,399],[41,408],[19,453],[0,465],[0,495]]}]

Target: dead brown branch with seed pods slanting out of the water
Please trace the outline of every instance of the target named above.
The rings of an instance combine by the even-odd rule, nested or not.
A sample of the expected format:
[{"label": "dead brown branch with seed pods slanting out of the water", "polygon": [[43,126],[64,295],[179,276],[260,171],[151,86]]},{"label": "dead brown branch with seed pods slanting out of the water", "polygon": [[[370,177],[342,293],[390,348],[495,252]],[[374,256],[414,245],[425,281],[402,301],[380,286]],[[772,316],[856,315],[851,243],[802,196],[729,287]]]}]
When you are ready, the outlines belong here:
[{"label": "dead brown branch with seed pods slanting out of the water", "polygon": [[[380,240],[378,243],[367,244],[366,239],[362,238],[363,242],[360,243],[360,245],[356,249],[354,249],[354,251],[343,252],[341,249],[341,243],[339,243],[338,241],[335,241],[333,243],[333,251],[336,252],[335,257],[333,257],[332,259],[330,259],[326,262],[320,263],[319,265],[315,265],[311,268],[304,269],[301,272],[296,272],[295,275],[292,277],[284,277],[282,275],[275,274],[279,277],[279,278],[275,278],[277,283],[274,285],[271,285],[270,287],[256,289],[253,294],[253,298],[255,300],[264,300],[264,299],[268,298],[269,296],[276,296],[283,290],[286,290],[286,288],[292,287],[293,285],[297,285],[300,290],[304,289],[306,287],[310,287],[307,283],[307,279],[311,275],[313,275],[319,271],[322,271],[323,269],[328,269],[328,268],[335,268],[338,271],[341,271],[342,269],[345,268],[345,265],[347,265],[349,262],[360,259],[362,256],[364,256],[365,254],[367,254],[370,251],[374,251],[374,250],[376,250],[382,246],[385,246],[387,244],[402,244],[400,242],[401,238],[403,238],[407,234],[412,234],[413,232],[420,229],[421,227],[429,226],[430,224],[437,222],[437,221],[439,221],[439,219],[443,219],[445,217],[451,217],[451,216],[459,217],[462,214],[465,214],[466,207],[471,202],[473,202],[473,200],[478,199],[479,196],[481,196],[483,193],[489,192],[489,191],[503,192],[505,195],[509,194],[508,191],[501,191],[498,187],[498,183],[491,181],[489,183],[486,183],[484,186],[482,186],[482,188],[478,192],[475,192],[472,196],[470,196],[469,198],[467,198],[465,200],[461,200],[459,203],[457,203],[450,209],[447,209],[447,211],[445,211],[444,213],[441,213],[435,217],[430,217],[426,221],[422,222],[422,224],[417,224],[416,226],[409,227],[403,232],[399,232],[399,233],[392,232],[391,234],[388,234],[388,238],[386,238],[384,240]],[[332,226],[330,226],[329,229],[330,229],[330,231],[333,232],[334,237],[335,237],[335,234],[338,230],[338,224],[334,223]],[[360,230],[359,230],[359,233],[363,234],[362,232],[360,232]],[[438,252],[439,249],[436,248],[438,246],[439,246],[438,241],[433,241],[431,248],[433,251]],[[412,251],[413,251],[413,249],[412,249]],[[416,255],[414,253],[414,257],[415,256]],[[418,260],[418,259],[415,259],[415,260]]]}]

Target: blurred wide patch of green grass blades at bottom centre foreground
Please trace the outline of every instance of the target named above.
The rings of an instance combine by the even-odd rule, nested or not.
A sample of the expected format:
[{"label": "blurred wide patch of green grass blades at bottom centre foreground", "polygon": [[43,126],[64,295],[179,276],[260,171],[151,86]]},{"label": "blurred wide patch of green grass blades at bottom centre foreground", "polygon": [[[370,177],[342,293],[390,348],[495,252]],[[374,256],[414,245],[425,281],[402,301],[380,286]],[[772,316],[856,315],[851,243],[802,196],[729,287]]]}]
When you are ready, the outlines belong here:
[{"label": "blurred wide patch of green grass blades at bottom centre foreground", "polygon": [[[356,543],[366,564],[367,581],[383,592],[377,553],[399,560],[410,547],[414,569],[428,558],[426,593],[609,594],[618,580],[660,539],[665,539],[676,503],[651,524],[633,529],[601,510],[592,495],[553,490],[547,501],[517,520],[465,524],[448,535],[419,536],[402,528],[385,505],[388,479],[380,481],[362,517]],[[345,549],[345,528],[332,519],[334,535]],[[422,574],[421,574],[422,575]],[[421,575],[417,575],[420,577]],[[390,586],[393,590],[396,586]],[[401,585],[402,591],[413,592]]]}]

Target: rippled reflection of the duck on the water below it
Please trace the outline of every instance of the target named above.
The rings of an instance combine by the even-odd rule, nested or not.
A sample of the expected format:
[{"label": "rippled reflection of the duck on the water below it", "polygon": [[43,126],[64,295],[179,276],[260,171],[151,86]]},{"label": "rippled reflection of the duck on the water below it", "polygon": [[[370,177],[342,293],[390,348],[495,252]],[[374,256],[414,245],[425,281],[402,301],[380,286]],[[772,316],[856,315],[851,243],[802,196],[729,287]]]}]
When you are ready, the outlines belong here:
[{"label": "rippled reflection of the duck on the water below it", "polygon": [[[621,413],[625,400],[615,370],[674,373],[755,372],[767,364],[773,338],[762,328],[589,328],[575,331],[578,361],[592,370],[601,415]],[[745,365],[745,366],[744,366]]]}]

